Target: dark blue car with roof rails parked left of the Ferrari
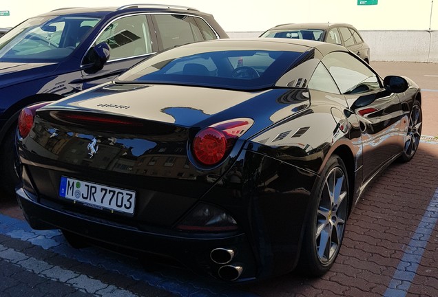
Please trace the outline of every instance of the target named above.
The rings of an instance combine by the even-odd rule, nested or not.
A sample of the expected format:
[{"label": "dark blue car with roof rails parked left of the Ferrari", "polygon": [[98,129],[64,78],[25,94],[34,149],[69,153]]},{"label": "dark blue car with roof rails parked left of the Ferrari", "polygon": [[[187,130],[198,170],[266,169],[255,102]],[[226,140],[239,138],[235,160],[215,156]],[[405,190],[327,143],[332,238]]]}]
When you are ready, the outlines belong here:
[{"label": "dark blue car with roof rails parked left of the Ferrari", "polygon": [[169,5],[65,8],[23,21],[0,38],[0,175],[14,190],[19,111],[113,80],[148,56],[227,38],[211,14]]}]

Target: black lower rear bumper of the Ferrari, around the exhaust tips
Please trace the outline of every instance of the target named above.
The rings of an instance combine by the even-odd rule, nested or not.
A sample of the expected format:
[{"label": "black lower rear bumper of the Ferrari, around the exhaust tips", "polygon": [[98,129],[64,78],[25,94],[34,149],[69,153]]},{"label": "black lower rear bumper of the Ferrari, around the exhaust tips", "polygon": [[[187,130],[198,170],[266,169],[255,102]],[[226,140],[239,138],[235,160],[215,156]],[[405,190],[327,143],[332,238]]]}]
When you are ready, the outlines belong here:
[{"label": "black lower rear bumper of the Ferrari, around the exhaust tips", "polygon": [[[132,251],[140,256],[143,253],[171,258],[201,275],[220,278],[219,270],[224,266],[242,267],[242,274],[236,282],[251,281],[256,278],[257,269],[253,251],[243,233],[223,236],[184,233],[178,236],[175,231],[145,232],[127,225],[110,221],[79,216],[77,213],[60,211],[41,205],[23,188],[16,191],[25,218],[34,229],[61,229],[85,238],[97,245],[112,245]],[[173,233],[172,233],[173,232]],[[218,264],[211,259],[211,251],[217,248],[233,250],[229,263]],[[223,270],[222,270],[223,271]]]}]

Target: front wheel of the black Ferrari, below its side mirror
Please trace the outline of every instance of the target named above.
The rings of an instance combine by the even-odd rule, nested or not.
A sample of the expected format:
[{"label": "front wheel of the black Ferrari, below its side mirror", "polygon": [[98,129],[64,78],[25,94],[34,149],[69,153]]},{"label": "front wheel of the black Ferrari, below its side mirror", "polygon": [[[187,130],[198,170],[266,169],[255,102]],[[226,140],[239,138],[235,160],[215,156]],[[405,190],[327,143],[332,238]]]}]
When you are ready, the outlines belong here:
[{"label": "front wheel of the black Ferrari, below its side mirror", "polygon": [[409,114],[409,124],[404,135],[403,153],[399,157],[400,162],[409,162],[417,153],[417,148],[421,140],[421,128],[423,126],[423,114],[421,112],[421,104],[418,100],[414,100],[414,104]]}]

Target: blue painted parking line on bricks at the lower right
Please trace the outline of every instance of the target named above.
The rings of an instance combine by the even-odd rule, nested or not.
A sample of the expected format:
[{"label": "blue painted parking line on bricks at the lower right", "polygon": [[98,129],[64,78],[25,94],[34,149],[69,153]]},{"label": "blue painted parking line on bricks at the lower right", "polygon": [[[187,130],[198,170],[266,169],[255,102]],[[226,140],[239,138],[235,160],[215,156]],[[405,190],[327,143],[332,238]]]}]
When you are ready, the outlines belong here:
[{"label": "blue painted parking line on bricks at the lower right", "polygon": [[430,203],[424,212],[423,218],[419,223],[417,230],[410,239],[410,243],[403,257],[401,258],[397,270],[395,270],[393,279],[390,281],[384,297],[404,297],[408,294],[409,287],[412,285],[415,274],[424,250],[428,244],[429,237],[432,234],[438,221],[438,188],[430,199]]}]

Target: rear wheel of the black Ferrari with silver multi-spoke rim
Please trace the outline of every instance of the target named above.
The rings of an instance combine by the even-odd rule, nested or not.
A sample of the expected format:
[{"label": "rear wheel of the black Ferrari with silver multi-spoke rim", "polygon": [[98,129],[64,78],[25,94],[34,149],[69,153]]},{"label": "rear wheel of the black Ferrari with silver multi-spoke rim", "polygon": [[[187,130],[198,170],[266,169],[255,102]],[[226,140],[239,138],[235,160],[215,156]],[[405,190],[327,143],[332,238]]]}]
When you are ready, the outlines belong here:
[{"label": "rear wheel of the black Ferrari with silver multi-spoke rim", "polygon": [[339,254],[348,217],[348,186],[344,162],[332,155],[313,190],[306,221],[298,268],[307,276],[325,274]]}]

